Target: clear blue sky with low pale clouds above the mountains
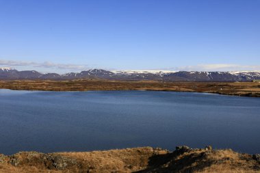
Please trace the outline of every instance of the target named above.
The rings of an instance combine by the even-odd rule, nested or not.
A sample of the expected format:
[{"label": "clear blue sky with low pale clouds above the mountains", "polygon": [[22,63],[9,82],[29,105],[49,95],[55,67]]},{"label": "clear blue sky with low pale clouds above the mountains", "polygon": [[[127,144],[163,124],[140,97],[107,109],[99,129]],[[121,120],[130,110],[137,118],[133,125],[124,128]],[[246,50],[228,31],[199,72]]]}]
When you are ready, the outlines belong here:
[{"label": "clear blue sky with low pale clouds above the mountains", "polygon": [[0,0],[0,67],[260,70],[260,0]]}]

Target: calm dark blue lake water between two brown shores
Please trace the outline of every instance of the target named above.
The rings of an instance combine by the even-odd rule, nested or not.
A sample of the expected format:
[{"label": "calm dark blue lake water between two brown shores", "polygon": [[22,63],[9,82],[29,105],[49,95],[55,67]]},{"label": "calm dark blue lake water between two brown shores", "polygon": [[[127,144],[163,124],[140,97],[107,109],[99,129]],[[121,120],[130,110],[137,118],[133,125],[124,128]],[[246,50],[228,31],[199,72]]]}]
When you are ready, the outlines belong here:
[{"label": "calm dark blue lake water between two brown shores", "polygon": [[260,98],[0,90],[0,153],[187,145],[260,152]]}]

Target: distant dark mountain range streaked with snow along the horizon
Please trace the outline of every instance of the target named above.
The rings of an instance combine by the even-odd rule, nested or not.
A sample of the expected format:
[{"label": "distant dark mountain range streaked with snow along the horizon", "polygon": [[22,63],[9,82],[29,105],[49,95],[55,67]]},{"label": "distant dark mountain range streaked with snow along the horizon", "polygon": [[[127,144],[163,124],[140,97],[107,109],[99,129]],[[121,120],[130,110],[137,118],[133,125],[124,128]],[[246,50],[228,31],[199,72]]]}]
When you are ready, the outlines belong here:
[{"label": "distant dark mountain range streaked with snow along the horizon", "polygon": [[166,70],[102,70],[91,69],[81,72],[43,74],[36,70],[18,71],[0,68],[1,80],[13,79],[110,79],[110,80],[156,80],[156,81],[252,81],[260,79],[260,71],[199,72]]}]

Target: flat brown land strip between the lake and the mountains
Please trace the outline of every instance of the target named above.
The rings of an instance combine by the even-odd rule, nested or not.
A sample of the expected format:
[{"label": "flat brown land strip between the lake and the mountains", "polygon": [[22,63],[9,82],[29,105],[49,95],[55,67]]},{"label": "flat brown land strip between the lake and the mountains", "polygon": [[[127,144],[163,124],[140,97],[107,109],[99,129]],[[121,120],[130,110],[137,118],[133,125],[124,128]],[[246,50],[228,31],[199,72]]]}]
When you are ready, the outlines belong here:
[{"label": "flat brown land strip between the lake and the mountains", "polygon": [[260,83],[258,82],[164,82],[111,81],[98,79],[63,81],[0,80],[0,89],[44,91],[154,90],[175,92],[208,92],[236,96],[260,96]]}]

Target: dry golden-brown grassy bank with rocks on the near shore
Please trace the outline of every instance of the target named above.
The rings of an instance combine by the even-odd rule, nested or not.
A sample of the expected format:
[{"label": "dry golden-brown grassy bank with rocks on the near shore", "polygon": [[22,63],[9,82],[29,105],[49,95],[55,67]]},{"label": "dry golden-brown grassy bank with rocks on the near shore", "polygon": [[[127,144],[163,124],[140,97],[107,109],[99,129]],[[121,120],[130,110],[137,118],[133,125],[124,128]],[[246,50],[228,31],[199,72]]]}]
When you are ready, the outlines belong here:
[{"label": "dry golden-brown grassy bank with rocks on the near shore", "polygon": [[231,149],[127,148],[93,152],[0,155],[0,172],[260,172],[260,156]]}]

